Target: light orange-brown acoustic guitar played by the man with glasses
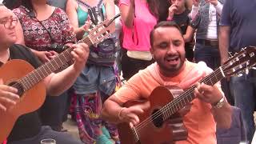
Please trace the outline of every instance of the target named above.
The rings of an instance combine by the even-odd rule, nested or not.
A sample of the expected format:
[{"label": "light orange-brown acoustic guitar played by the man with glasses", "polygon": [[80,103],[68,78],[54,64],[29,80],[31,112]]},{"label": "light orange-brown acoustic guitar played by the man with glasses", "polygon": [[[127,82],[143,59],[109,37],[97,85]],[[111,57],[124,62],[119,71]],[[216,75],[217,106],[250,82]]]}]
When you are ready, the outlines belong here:
[{"label": "light orange-brown acoustic guitar played by the man with glasses", "polygon": [[[88,46],[91,46],[102,42],[110,34],[114,33],[114,25],[110,25],[110,23],[114,22],[114,19],[119,16],[120,14],[95,26],[78,43],[85,42]],[[67,62],[70,62],[72,60],[71,51],[72,48],[67,48],[51,59],[50,62],[46,62],[36,70],[23,60],[10,60],[0,68],[0,78],[2,78],[4,84],[17,88],[20,96],[15,106],[7,111],[0,111],[0,143],[8,137],[19,116],[38,110],[42,106],[46,98],[46,86],[42,80]]]}]

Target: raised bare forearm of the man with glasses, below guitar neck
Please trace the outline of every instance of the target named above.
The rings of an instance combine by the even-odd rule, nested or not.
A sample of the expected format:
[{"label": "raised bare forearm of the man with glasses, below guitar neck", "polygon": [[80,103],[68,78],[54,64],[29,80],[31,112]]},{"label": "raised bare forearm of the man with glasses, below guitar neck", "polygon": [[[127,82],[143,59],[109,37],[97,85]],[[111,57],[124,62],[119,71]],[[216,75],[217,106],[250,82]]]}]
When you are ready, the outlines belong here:
[{"label": "raised bare forearm of the man with glasses, below guitar neck", "polygon": [[74,64],[57,74],[52,74],[47,85],[47,94],[58,96],[72,86],[81,70],[74,69]]}]

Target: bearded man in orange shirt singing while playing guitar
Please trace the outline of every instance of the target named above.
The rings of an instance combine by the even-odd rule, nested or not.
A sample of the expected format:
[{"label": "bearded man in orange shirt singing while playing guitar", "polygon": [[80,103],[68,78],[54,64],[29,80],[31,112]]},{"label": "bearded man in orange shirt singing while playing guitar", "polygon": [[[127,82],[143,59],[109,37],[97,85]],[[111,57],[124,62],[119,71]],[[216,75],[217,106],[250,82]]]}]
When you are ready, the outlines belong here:
[{"label": "bearded man in orange shirt singing while playing guitar", "polygon": [[178,143],[217,143],[216,124],[222,128],[230,127],[231,108],[219,82],[214,86],[198,83],[212,70],[204,62],[186,60],[182,32],[174,22],[160,22],[154,26],[150,33],[150,45],[150,52],[156,62],[135,74],[106,100],[102,117],[110,122],[128,122],[131,127],[136,126],[140,122],[138,114],[142,114],[149,106],[148,102],[128,108],[123,107],[126,102],[148,98],[157,86],[176,86],[186,90],[196,84],[195,98],[189,106],[185,106],[190,110],[183,114],[188,138]]}]

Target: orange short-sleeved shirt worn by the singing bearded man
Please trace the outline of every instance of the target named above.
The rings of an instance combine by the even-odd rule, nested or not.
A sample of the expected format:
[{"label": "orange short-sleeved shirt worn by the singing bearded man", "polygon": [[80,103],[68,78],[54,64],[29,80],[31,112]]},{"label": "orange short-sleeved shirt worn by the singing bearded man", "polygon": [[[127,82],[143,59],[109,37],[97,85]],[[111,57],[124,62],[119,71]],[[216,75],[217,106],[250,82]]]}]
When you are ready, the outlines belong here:
[{"label": "orange short-sleeved shirt worn by the singing bearded man", "polygon": [[[114,94],[114,98],[122,103],[139,98],[148,98],[157,86],[178,86],[186,90],[212,71],[204,62],[196,64],[186,61],[180,74],[173,78],[166,78],[160,74],[157,63],[154,63],[130,78]],[[215,85],[221,90],[219,82]],[[216,123],[210,112],[210,104],[202,102],[198,98],[195,98],[192,103],[190,112],[183,117],[184,125],[188,130],[188,138],[186,141],[176,143],[216,144]]]}]

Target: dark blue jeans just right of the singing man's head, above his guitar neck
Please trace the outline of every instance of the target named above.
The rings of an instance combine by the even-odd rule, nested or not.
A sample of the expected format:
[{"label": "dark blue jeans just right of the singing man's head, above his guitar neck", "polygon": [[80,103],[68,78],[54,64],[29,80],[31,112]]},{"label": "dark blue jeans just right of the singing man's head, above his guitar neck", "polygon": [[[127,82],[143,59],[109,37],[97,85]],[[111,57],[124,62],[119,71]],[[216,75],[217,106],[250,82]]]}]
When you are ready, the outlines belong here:
[{"label": "dark blue jeans just right of the singing man's head, above his guitar neck", "polygon": [[218,46],[205,46],[203,43],[196,42],[194,60],[195,62],[206,62],[207,66],[215,70],[221,64]]}]

